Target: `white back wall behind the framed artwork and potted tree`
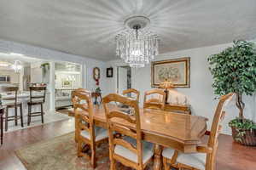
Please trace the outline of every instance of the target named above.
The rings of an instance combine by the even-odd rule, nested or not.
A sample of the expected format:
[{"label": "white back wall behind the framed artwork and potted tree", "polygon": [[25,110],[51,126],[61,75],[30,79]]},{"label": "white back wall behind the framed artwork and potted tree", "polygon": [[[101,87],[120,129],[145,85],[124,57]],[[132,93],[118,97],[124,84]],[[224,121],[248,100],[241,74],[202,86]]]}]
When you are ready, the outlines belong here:
[{"label": "white back wall behind the framed artwork and potted tree", "polygon": [[[177,88],[177,91],[185,94],[189,103],[192,106],[192,114],[199,116],[206,116],[209,118],[208,128],[212,124],[213,111],[217,105],[216,97],[213,94],[212,89],[212,76],[208,70],[207,57],[210,54],[218,54],[224,48],[227,48],[230,44],[221,44],[217,46],[204,47],[204,48],[192,48],[168,54],[161,54],[157,56],[155,60],[162,59],[177,59],[181,57],[190,57],[190,88]],[[108,78],[108,92],[115,92],[116,90],[116,66],[125,65],[121,60],[114,60],[108,62],[108,66],[113,66],[113,75],[115,77]],[[147,65],[141,69],[132,69],[131,71],[131,86],[137,88],[141,93],[140,104],[143,104],[144,91],[151,88],[150,84],[150,65]],[[255,96],[244,97],[246,103],[245,115],[247,118],[253,118],[255,120]],[[223,133],[230,134],[230,127],[228,122],[238,116],[238,111],[234,102],[231,103],[227,110],[227,116],[224,120]],[[255,120],[256,121],[256,120]]]}]

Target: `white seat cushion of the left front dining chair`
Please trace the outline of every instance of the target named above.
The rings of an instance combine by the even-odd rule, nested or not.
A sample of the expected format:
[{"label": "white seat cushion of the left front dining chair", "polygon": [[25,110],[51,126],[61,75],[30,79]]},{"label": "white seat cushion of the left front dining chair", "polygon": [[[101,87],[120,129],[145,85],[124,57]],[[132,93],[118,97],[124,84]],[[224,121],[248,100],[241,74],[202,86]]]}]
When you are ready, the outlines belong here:
[{"label": "white seat cushion of the left front dining chair", "polygon": [[[90,140],[90,133],[86,130],[81,131],[81,136]],[[108,138],[108,131],[102,127],[95,127],[95,139],[96,141]]]}]

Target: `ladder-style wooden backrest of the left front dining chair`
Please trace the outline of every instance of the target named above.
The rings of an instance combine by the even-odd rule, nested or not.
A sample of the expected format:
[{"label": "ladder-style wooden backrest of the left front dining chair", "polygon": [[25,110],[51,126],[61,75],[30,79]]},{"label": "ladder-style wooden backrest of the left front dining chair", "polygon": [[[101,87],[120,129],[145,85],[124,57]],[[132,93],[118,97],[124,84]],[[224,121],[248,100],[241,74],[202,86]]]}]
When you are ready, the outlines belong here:
[{"label": "ladder-style wooden backrest of the left front dining chair", "polygon": [[[91,141],[95,141],[95,129],[93,121],[93,104],[90,91],[81,89],[74,90],[72,93],[73,107],[76,119],[76,133],[83,129],[90,133]],[[81,104],[81,101],[84,101]]]}]

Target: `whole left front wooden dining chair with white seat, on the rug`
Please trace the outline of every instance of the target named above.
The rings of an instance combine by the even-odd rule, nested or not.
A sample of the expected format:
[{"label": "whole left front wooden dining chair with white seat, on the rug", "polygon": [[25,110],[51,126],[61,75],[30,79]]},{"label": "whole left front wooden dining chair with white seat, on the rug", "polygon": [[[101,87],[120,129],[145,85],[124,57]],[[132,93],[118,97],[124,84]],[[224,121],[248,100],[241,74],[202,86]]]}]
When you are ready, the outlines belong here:
[{"label": "whole left front wooden dining chair with white seat, on the rug", "polygon": [[[90,160],[93,168],[96,167],[96,146],[108,141],[108,131],[102,127],[96,127],[93,121],[93,104],[90,91],[73,92],[75,119],[77,122],[76,133],[78,134],[78,156]],[[79,104],[84,100],[86,105]],[[78,111],[82,110],[82,111]],[[90,155],[85,151],[90,148]]]}]

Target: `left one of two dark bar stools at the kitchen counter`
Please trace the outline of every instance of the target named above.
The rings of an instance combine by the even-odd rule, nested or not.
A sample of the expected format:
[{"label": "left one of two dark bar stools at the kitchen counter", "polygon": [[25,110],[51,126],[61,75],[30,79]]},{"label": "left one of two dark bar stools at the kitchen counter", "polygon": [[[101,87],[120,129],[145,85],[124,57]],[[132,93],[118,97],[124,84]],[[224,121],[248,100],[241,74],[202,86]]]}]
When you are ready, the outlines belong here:
[{"label": "left one of two dark bar stools at the kitchen counter", "polygon": [[[5,109],[5,116],[3,120],[5,122],[5,131],[8,130],[8,122],[15,121],[15,126],[18,125],[18,120],[20,119],[21,127],[23,127],[23,110],[22,110],[22,103],[18,101],[18,87],[2,87],[1,92],[5,93],[12,93],[14,96],[4,99],[3,105],[6,106]],[[20,107],[20,116],[18,116],[18,108]],[[9,109],[15,109],[15,116],[9,116]]]}]

